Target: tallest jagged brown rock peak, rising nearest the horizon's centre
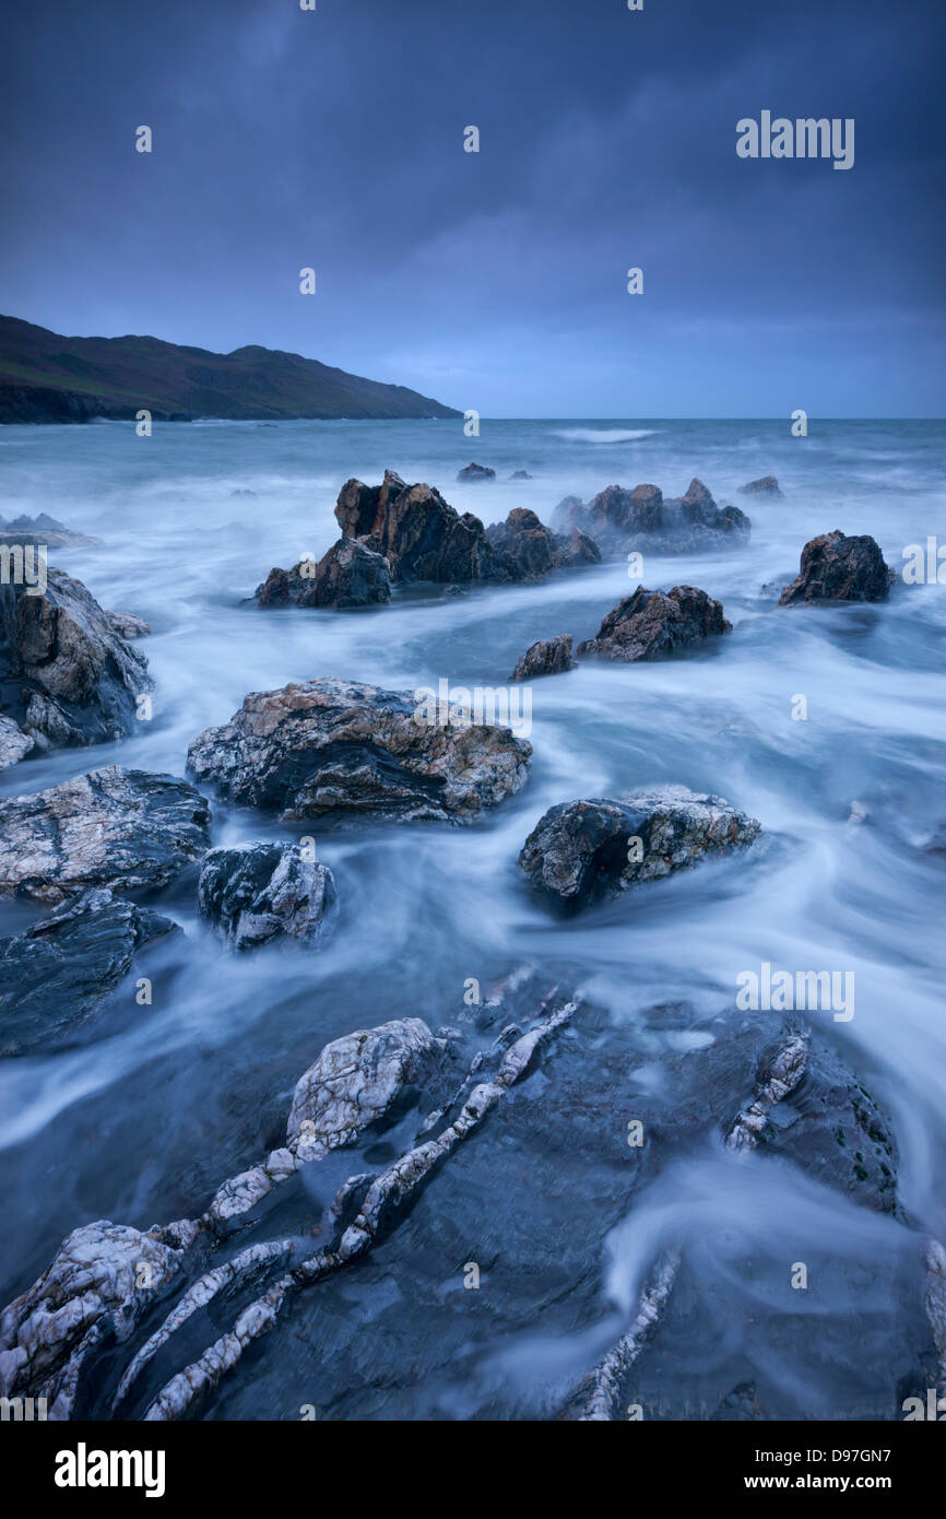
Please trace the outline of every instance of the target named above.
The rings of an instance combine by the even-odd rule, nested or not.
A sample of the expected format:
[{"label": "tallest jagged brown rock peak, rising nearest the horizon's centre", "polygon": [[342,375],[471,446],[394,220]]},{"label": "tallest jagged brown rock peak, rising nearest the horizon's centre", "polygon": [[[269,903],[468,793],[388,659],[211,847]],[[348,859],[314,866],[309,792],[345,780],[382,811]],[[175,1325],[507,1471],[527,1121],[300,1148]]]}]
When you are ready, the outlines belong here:
[{"label": "tallest jagged brown rock peak, rising nearest the horizon's centre", "polygon": [[396,582],[504,577],[478,516],[460,516],[433,486],[407,486],[393,469],[380,486],[348,480],[336,518],[346,538],[389,561]]}]

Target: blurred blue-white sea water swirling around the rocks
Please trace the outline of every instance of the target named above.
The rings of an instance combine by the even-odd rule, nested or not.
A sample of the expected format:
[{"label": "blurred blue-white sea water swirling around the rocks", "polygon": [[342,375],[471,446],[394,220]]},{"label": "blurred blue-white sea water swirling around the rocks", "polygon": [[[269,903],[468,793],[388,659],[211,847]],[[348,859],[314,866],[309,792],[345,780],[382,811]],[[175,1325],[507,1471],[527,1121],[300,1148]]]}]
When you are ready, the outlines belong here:
[{"label": "blurred blue-white sea water swirling around the rocks", "polygon": [[[802,545],[835,527],[872,533],[897,571],[907,545],[937,533],[946,542],[944,441],[938,422],[814,419],[805,439],[788,421],[484,421],[478,439],[466,439],[460,422],[197,422],[155,425],[150,439],[131,424],[0,428],[0,515],[49,512],[102,539],[50,561],[103,606],[150,623],[138,647],[156,681],[153,720],[134,738],[26,761],[0,775],[5,796],[111,763],[182,775],[197,732],[229,718],[248,691],[293,679],[503,685],[534,639],[594,635],[633,589],[626,565],[612,561],[539,585],[398,597],[369,612],[246,605],[273,565],[330,547],[334,501],[351,475],[375,483],[393,468],[487,523],[513,506],[550,521],[562,497],[588,500],[612,483],[650,482],[677,495],[698,475],[753,524],[735,551],[645,559],[647,586],[702,586],[723,602],[733,632],[691,658],[583,661],[533,682],[531,776],[481,823],[320,834],[340,896],[322,952],[237,963],[197,919],[194,872],[158,895],[184,933],[143,962],[155,1004],[138,1009],[118,993],[94,1037],[0,1066],[0,1300],[80,1223],[147,1227],[194,1215],[225,1176],[278,1138],[295,1080],[328,1039],[395,1016],[454,1024],[471,977],[486,986],[536,966],[592,995],[616,1047],[641,1048],[653,1004],[724,1009],[738,975],[762,962],[853,972],[853,1018],[814,1012],[809,1021],[893,1115],[905,1220],[832,1200],[791,1167],[777,1173],[773,1209],[774,1173],[762,1164],[736,1173],[700,1154],[668,1167],[618,1227],[603,1223],[595,1233],[586,1224],[594,1162],[571,1153],[545,1220],[553,1249],[572,1235],[575,1198],[585,1203],[586,1297],[574,1322],[536,1314],[524,1332],[522,1314],[515,1328],[503,1315],[483,1318],[462,1349],[437,1355],[437,1335],[405,1287],[402,1243],[331,1297],[304,1294],[208,1416],[287,1419],[305,1402],[320,1417],[544,1416],[565,1372],[588,1369],[615,1325],[621,1332],[670,1229],[705,1288],[692,1346],[667,1388],[674,1416],[700,1417],[749,1366],[767,1410],[782,1416],[899,1417],[893,1294],[858,1273],[890,1261],[893,1281],[917,1233],[946,1235],[946,586],[897,582],[882,606],[779,611],[762,586],[797,573]],[[456,483],[471,459],[498,478]],[[510,482],[515,469],[533,478]],[[762,474],[777,475],[784,500],[736,494]],[[803,722],[793,720],[799,696]],[[765,848],[553,922],[515,864],[545,808],[664,782],[718,793],[758,817]],[[216,843],[287,832],[272,817],[214,804]],[[36,916],[30,905],[0,904],[0,936]],[[554,1091],[545,1100],[554,1109]],[[615,1124],[624,1126],[623,1113]],[[440,1188],[449,1218],[439,1214],[424,1233],[422,1203],[405,1235],[424,1256],[412,1268],[443,1293],[465,1261],[478,1259],[484,1200],[500,1230],[516,1208],[501,1176],[477,1174],[477,1156],[489,1164],[477,1144],[465,1183],[451,1183],[456,1195]],[[528,1188],[515,1135],[507,1144],[510,1174]],[[364,1168],[345,1151],[333,1167],[330,1192]],[[708,1221],[726,1226],[715,1246]],[[826,1232],[838,1270],[820,1296],[779,1306],[774,1290],[765,1296],[756,1277],[750,1287],[739,1276],[752,1258],[759,1279],[774,1281],[785,1261],[823,1252]],[[503,1273],[498,1238],[493,1279]],[[776,1320],[811,1315],[790,1349],[773,1352],[768,1331],[753,1329],[755,1293]],[[846,1326],[828,1361],[818,1349],[826,1318]],[[386,1344],[398,1337],[404,1364],[424,1373],[384,1382],[372,1334]],[[345,1370],[323,1402],[333,1355]]]}]

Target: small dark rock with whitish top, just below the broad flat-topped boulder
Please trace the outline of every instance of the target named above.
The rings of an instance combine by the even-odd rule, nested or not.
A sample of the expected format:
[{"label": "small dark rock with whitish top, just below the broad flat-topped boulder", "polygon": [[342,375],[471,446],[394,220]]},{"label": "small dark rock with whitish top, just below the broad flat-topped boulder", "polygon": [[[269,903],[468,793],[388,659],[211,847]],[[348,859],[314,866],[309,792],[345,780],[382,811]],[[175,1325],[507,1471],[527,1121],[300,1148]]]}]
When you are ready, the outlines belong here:
[{"label": "small dark rock with whitish top, just below the broad flat-topped boulder", "polygon": [[197,901],[234,949],[284,937],[316,946],[336,902],[336,883],[302,845],[211,849],[200,864]]}]

